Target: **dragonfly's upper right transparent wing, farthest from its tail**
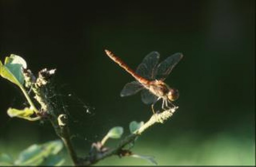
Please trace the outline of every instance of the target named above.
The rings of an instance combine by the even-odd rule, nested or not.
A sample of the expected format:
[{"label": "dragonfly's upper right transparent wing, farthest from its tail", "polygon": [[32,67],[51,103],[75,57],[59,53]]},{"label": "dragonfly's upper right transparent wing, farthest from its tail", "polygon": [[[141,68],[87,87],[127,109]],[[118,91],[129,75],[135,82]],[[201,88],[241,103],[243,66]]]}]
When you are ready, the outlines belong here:
[{"label": "dragonfly's upper right transparent wing, farthest from its tail", "polygon": [[161,62],[156,69],[155,79],[164,80],[171,73],[180,59],[182,59],[182,53],[175,53]]}]

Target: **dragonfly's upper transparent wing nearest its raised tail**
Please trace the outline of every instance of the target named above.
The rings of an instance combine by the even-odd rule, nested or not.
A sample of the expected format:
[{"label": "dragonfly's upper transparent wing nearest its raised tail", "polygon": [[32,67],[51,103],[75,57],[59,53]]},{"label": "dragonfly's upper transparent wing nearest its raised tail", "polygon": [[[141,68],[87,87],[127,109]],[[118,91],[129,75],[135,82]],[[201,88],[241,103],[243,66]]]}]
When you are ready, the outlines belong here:
[{"label": "dragonfly's upper transparent wing nearest its raised tail", "polygon": [[154,79],[155,68],[159,60],[159,53],[150,52],[137,67],[136,73],[146,79]]}]

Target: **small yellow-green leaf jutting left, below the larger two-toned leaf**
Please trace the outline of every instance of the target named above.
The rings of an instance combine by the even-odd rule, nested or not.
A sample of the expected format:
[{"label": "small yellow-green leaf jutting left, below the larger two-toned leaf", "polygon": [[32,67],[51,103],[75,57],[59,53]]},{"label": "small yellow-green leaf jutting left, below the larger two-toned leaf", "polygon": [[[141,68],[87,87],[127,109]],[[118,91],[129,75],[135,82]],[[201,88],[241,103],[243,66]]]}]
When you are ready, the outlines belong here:
[{"label": "small yellow-green leaf jutting left, below the larger two-toned leaf", "polygon": [[31,118],[31,115],[34,114],[34,110],[32,110],[31,108],[27,108],[27,107],[24,108],[23,110],[9,108],[7,110],[7,114],[10,117],[18,117],[18,118],[22,118],[22,119],[27,119],[29,121],[36,121],[36,120],[40,119],[40,117]]}]

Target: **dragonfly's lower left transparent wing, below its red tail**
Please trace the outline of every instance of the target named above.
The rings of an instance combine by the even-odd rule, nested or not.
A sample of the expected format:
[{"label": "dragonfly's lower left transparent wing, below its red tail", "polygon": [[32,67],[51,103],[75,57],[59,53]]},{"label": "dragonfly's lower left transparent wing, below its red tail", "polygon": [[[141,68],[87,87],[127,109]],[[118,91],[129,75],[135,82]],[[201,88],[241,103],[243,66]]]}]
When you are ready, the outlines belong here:
[{"label": "dragonfly's lower left transparent wing, below its red tail", "polygon": [[139,83],[138,81],[132,81],[132,82],[126,83],[124,88],[121,90],[120,96],[121,97],[130,96],[132,94],[139,92],[143,88],[144,86],[142,86],[141,83]]}]

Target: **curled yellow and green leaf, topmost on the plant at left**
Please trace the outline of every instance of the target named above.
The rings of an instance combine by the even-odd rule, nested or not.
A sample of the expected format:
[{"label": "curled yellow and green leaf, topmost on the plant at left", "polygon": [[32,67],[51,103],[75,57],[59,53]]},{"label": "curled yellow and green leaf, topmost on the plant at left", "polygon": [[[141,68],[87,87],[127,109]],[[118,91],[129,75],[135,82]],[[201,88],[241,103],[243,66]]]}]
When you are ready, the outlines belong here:
[{"label": "curled yellow and green leaf, topmost on the plant at left", "polygon": [[5,57],[4,65],[0,61],[0,75],[16,85],[22,86],[24,83],[22,67],[27,68],[25,60],[18,55],[11,54],[10,57]]}]

